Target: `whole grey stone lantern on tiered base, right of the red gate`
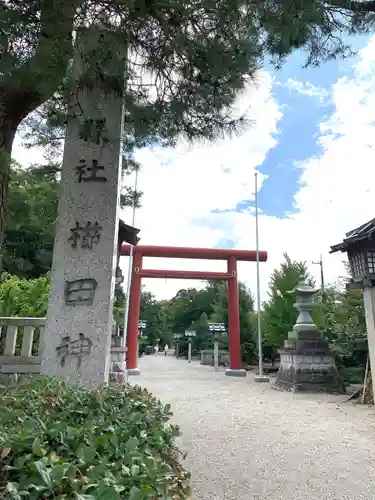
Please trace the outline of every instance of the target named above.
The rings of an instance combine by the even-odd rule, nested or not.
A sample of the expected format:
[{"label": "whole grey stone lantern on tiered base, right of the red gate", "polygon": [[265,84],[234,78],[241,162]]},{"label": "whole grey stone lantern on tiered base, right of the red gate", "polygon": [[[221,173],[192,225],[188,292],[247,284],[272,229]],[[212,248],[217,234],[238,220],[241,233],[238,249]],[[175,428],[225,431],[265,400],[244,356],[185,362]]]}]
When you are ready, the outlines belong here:
[{"label": "whole grey stone lantern on tiered base, right of the red gate", "polygon": [[276,389],[332,394],[345,392],[328,342],[310,316],[312,298],[317,291],[300,283],[290,292],[296,293],[294,307],[299,311],[299,316],[284,342],[284,349],[280,349],[280,368],[274,385]]}]

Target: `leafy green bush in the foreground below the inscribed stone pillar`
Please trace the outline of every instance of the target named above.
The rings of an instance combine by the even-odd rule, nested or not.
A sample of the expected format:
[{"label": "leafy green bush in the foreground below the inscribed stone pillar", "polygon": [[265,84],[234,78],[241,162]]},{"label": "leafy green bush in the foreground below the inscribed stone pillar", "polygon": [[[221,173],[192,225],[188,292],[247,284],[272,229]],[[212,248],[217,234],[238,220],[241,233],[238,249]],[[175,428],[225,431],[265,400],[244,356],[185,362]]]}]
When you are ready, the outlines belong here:
[{"label": "leafy green bush in the foreground below the inscribed stone pillar", "polygon": [[185,499],[170,416],[139,387],[90,392],[43,377],[0,386],[0,498]]}]

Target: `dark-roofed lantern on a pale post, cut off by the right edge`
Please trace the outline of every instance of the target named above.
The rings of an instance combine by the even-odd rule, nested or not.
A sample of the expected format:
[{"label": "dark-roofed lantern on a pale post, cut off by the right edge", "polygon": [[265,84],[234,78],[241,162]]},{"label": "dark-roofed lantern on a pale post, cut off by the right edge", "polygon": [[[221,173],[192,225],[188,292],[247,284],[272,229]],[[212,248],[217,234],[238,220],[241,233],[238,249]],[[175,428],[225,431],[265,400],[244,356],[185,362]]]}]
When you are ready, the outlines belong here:
[{"label": "dark-roofed lantern on a pale post, cut off by the right edge", "polygon": [[348,255],[351,282],[349,288],[363,290],[366,329],[371,370],[375,370],[375,219],[345,234],[331,252]]}]

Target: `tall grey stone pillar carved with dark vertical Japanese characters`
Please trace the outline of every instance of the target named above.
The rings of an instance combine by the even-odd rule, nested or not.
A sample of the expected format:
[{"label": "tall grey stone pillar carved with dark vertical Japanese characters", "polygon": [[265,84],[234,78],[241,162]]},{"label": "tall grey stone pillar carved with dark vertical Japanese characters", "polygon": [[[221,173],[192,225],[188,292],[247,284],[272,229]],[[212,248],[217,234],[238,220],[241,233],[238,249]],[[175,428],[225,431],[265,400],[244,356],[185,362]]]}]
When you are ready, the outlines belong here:
[{"label": "tall grey stone pillar carved with dark vertical Japanese characters", "polygon": [[41,353],[43,374],[90,389],[109,377],[119,225],[123,99],[87,64],[96,58],[108,79],[121,79],[124,56],[107,36],[99,28],[78,33],[74,72],[85,83],[69,107]]}]

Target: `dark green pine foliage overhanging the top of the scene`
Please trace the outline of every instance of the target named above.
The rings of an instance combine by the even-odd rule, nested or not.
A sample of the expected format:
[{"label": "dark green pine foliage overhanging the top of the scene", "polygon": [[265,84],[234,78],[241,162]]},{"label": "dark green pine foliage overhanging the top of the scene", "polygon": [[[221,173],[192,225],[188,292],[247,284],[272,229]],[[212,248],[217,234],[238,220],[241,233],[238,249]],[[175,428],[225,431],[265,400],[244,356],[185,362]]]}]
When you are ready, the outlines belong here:
[{"label": "dark green pine foliage overhanging the top of the scene", "polygon": [[307,64],[347,55],[342,36],[371,30],[375,4],[2,0],[0,9],[1,104],[13,112],[15,126],[50,98],[58,102],[56,92],[72,84],[77,30],[100,23],[108,37],[92,54],[92,68],[100,72],[110,52],[126,47],[129,129],[139,138],[170,140],[181,133],[213,138],[230,128],[228,107],[267,55],[280,62],[303,48]]}]

